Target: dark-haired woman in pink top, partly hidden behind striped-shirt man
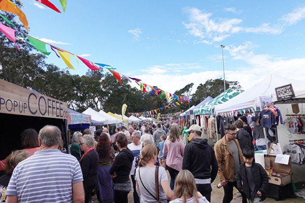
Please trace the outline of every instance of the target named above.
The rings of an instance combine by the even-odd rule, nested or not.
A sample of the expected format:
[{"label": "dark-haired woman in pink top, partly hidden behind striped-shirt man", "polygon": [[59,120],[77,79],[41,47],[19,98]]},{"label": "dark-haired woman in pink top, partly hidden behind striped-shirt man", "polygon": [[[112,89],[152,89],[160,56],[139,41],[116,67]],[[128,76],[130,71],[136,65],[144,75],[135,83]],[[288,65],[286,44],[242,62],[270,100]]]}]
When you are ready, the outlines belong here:
[{"label": "dark-haired woman in pink top, partly hidden behind striped-shirt man", "polygon": [[[28,128],[21,133],[21,147],[24,151],[29,152],[29,157],[35,152],[40,151],[38,134],[33,128]],[[5,169],[6,159],[0,161],[0,170]]]}]

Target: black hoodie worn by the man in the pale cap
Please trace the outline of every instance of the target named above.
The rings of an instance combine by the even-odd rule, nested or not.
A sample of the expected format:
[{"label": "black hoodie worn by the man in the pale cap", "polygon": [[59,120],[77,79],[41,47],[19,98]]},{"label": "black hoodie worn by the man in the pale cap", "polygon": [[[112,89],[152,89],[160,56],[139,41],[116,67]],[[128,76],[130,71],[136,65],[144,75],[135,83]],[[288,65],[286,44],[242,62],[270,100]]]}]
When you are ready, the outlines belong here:
[{"label": "black hoodie worn by the man in the pale cap", "polygon": [[214,149],[207,139],[195,138],[185,148],[182,169],[191,171],[195,179],[215,180],[218,164]]}]

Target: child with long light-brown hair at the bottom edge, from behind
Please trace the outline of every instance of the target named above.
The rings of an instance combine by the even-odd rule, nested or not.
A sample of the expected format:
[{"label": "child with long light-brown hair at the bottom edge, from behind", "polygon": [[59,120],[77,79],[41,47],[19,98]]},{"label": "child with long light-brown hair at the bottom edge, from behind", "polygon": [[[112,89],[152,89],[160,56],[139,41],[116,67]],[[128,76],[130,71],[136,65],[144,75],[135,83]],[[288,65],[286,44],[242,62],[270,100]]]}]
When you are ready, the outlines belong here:
[{"label": "child with long light-brown hair at the bottom edge, from behind", "polygon": [[194,176],[189,170],[180,170],[175,180],[174,200],[170,203],[209,203],[209,201],[197,192]]}]

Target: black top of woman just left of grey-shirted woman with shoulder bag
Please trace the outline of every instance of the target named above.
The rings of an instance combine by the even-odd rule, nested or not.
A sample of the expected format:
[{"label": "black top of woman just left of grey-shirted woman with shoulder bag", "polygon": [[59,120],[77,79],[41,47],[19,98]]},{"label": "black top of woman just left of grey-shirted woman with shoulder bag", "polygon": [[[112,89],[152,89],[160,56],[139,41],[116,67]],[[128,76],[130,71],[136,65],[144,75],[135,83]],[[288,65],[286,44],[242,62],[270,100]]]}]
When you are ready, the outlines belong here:
[{"label": "black top of woman just left of grey-shirted woman with shoulder bag", "polygon": [[113,183],[125,183],[129,180],[133,160],[134,155],[128,148],[118,153],[109,170],[110,175],[116,173],[116,177],[112,179]]}]

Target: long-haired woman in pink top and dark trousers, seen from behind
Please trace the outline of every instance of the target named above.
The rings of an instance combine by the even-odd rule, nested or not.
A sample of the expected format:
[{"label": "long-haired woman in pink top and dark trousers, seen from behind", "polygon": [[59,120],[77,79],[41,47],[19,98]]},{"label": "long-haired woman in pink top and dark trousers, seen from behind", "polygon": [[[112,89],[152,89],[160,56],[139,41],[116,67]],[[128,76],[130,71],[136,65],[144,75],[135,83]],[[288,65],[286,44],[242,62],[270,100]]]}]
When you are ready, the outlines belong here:
[{"label": "long-haired woman in pink top and dark trousers, seen from behind", "polygon": [[180,139],[180,128],[177,124],[170,126],[168,138],[165,140],[163,156],[167,154],[166,166],[170,175],[170,188],[174,189],[175,179],[182,169],[184,144]]}]

